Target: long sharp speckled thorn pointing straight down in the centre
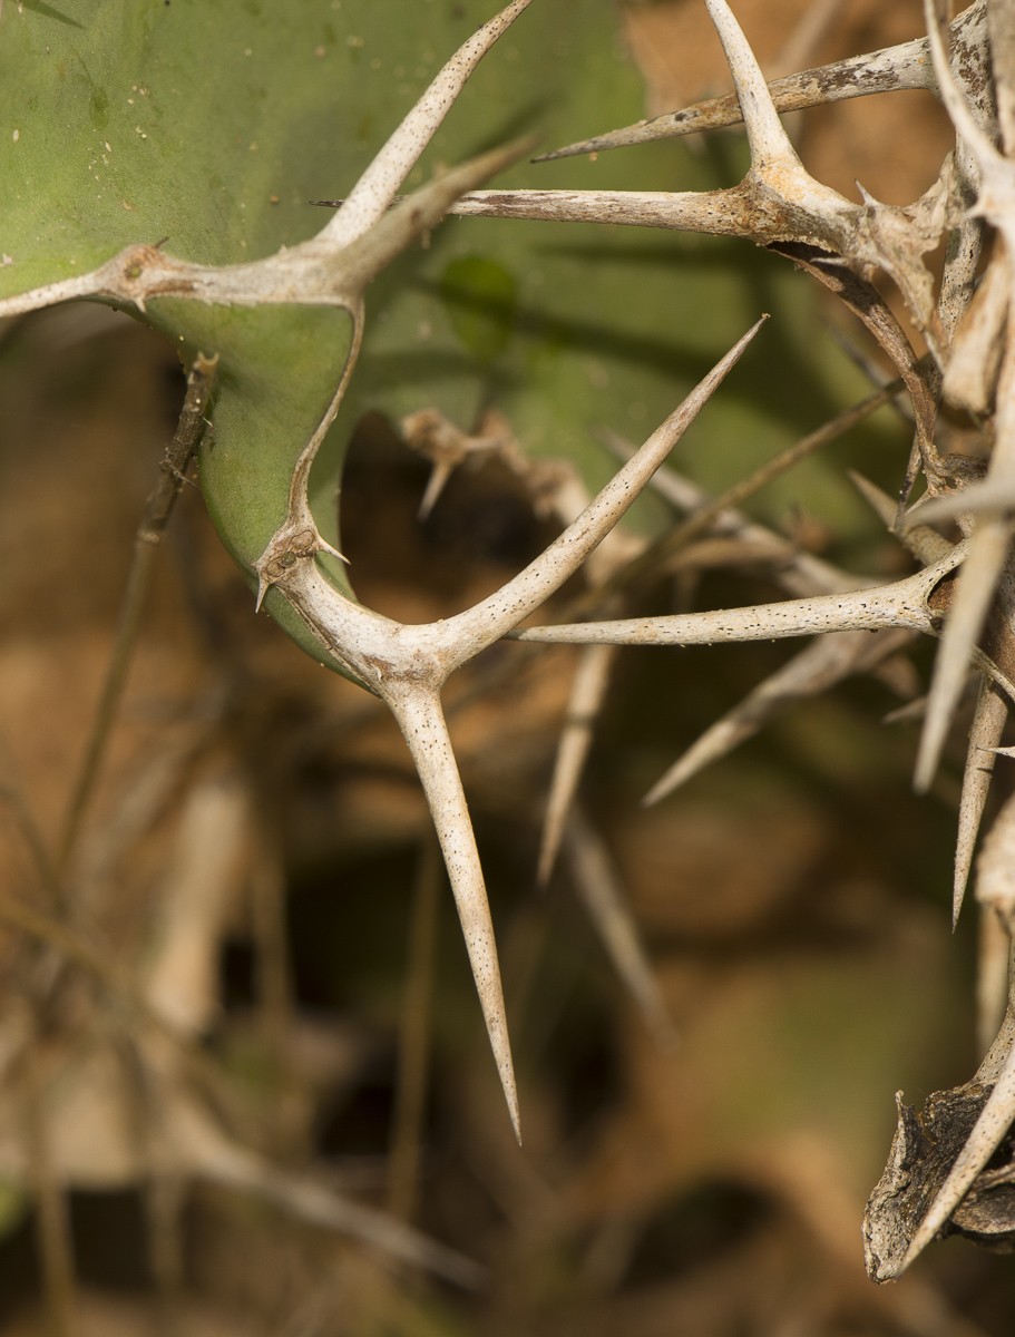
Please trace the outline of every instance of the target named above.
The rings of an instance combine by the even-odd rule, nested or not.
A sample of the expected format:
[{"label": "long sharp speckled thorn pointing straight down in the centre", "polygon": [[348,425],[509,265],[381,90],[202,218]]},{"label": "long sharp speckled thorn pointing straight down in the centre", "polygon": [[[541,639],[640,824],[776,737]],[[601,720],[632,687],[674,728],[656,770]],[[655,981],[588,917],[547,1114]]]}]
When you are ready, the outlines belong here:
[{"label": "long sharp speckled thorn pointing straight down in the centre", "polygon": [[504,993],[500,985],[500,963],[493,940],[493,923],[483,882],[483,868],[476,850],[465,794],[457,762],[451,747],[448,726],[437,691],[413,682],[388,682],[384,698],[399,722],[433,817],[451,889],[461,920],[465,949],[476,981],[483,1019],[504,1088],[515,1136],[522,1144],[515,1070],[511,1062]]}]

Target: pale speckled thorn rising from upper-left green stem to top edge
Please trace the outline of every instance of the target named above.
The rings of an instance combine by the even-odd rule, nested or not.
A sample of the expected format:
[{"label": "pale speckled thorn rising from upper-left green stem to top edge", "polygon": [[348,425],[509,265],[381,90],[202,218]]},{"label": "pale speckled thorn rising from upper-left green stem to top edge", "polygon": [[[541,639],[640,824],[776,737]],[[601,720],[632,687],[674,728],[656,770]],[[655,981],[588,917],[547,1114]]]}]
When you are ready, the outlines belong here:
[{"label": "pale speckled thorn rising from upper-left green stem to top edge", "polygon": [[468,76],[497,37],[531,3],[532,0],[512,0],[459,47],[349,191],[334,218],[321,229],[320,238],[332,246],[348,246],[384,215],[399,186],[416,166]]}]

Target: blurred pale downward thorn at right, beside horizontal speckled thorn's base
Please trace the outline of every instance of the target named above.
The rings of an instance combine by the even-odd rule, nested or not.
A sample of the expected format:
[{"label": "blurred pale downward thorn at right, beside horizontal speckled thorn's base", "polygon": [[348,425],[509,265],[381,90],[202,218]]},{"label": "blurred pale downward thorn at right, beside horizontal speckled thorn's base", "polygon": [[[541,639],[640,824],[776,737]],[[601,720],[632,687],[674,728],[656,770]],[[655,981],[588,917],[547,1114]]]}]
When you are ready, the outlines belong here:
[{"label": "blurred pale downward thorn at right, beside horizontal speckled thorn's base", "polygon": [[970,659],[987,620],[994,590],[1008,552],[1012,525],[984,520],[967,543],[967,555],[955,586],[955,602],[933,664],[927,697],[913,787],[927,793],[937,770],[952,714],[962,695]]}]

